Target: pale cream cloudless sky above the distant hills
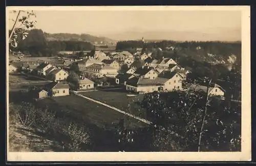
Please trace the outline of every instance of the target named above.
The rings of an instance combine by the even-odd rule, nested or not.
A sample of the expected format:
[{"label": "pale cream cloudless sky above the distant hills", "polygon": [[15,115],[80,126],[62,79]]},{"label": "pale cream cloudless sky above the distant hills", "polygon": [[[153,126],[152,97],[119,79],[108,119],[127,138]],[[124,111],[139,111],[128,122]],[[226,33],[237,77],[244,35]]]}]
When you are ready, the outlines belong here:
[{"label": "pale cream cloudless sky above the distant hills", "polygon": [[[36,28],[47,33],[107,36],[126,31],[241,33],[241,11],[45,11],[35,10]],[[10,15],[14,18],[14,15]],[[10,24],[9,24],[10,25]],[[224,35],[224,34],[223,34]]]}]

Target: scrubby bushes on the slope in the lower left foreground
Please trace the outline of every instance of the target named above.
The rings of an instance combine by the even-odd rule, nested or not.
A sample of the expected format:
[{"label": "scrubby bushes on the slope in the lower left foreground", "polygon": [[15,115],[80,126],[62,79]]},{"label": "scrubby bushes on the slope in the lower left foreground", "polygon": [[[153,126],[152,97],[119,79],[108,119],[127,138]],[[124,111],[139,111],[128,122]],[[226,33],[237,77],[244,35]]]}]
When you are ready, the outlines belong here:
[{"label": "scrubby bushes on the slope in the lower left foreground", "polygon": [[63,143],[63,150],[83,151],[83,145],[90,142],[84,127],[78,126],[65,117],[56,117],[56,112],[48,108],[36,108],[32,103],[11,104],[10,120],[19,120],[26,127],[33,127]]}]

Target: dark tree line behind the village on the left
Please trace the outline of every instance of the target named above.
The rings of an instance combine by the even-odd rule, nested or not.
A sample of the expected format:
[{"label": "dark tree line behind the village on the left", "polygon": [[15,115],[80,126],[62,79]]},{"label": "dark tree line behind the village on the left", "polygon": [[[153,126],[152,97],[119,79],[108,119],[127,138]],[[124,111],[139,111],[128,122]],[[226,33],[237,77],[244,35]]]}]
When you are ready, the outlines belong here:
[{"label": "dark tree line behind the village on the left", "polygon": [[19,37],[19,44],[16,48],[12,48],[12,51],[20,51],[33,57],[50,57],[56,56],[58,51],[84,51],[94,48],[90,42],[86,41],[48,41],[45,33],[40,29],[32,29],[27,32],[27,38],[22,40]]}]

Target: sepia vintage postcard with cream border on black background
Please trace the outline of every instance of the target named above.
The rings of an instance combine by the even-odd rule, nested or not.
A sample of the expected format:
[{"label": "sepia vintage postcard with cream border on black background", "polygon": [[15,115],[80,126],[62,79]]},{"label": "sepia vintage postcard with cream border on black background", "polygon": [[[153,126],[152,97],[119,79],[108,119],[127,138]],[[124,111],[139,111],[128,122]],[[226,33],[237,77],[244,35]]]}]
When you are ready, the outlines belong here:
[{"label": "sepia vintage postcard with cream border on black background", "polygon": [[250,161],[249,6],[7,7],[8,161]]}]

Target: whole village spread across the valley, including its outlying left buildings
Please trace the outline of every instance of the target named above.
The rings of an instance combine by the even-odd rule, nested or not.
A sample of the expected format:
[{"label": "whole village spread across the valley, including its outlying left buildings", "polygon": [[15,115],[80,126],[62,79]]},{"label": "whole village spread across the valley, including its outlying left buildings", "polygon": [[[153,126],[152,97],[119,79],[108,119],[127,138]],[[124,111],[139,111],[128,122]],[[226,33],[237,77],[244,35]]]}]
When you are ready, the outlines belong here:
[{"label": "whole village spread across the valley, including its outlying left buildings", "polygon": [[[137,94],[176,90],[206,92],[205,85],[187,83],[186,78],[191,71],[177,64],[174,59],[165,57],[160,60],[153,59],[152,53],[146,54],[141,51],[141,48],[137,48],[133,55],[128,51],[104,53],[102,50],[94,50],[91,51],[92,56],[70,59],[69,65],[62,66],[55,66],[48,61],[39,63],[19,60],[9,64],[9,73],[22,72],[52,81],[45,87],[35,89],[37,99],[67,96],[71,91],[102,88],[125,89],[127,93]],[[76,65],[79,69],[78,86],[75,88],[67,79],[72,65]],[[223,98],[224,93],[225,90],[221,86],[211,84],[209,90],[211,96]]]}]

